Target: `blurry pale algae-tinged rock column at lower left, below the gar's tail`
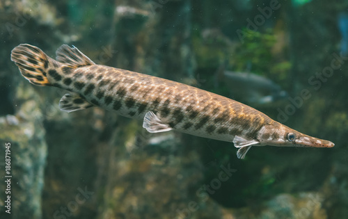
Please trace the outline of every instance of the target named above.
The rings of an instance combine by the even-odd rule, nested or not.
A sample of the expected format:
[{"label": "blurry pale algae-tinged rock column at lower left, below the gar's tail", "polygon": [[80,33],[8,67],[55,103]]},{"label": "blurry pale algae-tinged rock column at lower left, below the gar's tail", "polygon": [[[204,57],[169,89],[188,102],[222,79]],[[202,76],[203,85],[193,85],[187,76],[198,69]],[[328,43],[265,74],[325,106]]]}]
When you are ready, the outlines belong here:
[{"label": "blurry pale algae-tinged rock column at lower left, below the gar's tail", "polygon": [[[16,91],[15,115],[0,117],[1,151],[5,152],[6,143],[10,143],[11,216],[41,218],[47,145],[40,100],[31,86],[20,83]],[[0,190],[5,191],[4,186],[1,184]],[[4,204],[3,198],[0,203]],[[5,217],[3,211],[0,216]]]}]

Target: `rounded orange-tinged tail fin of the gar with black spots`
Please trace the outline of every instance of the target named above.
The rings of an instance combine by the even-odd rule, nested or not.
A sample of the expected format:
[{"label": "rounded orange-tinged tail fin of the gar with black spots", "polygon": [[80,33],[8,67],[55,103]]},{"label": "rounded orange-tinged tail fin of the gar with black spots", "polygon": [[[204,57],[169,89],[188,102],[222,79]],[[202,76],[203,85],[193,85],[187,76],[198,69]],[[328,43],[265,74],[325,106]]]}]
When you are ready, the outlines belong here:
[{"label": "rounded orange-tinged tail fin of the gar with black spots", "polygon": [[19,44],[11,51],[11,60],[30,83],[36,86],[52,86],[47,79],[49,66],[59,63],[47,56],[41,49],[30,44]]}]

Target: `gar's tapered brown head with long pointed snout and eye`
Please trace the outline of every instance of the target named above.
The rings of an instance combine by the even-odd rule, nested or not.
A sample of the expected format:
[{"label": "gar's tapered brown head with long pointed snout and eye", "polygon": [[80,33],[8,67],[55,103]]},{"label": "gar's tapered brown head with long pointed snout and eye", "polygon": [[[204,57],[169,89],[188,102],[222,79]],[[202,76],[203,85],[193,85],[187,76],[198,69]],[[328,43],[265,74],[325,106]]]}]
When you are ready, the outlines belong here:
[{"label": "gar's tapered brown head with long pointed snout and eye", "polygon": [[333,147],[329,140],[322,140],[308,136],[283,124],[266,125],[258,133],[260,145],[282,147]]}]

